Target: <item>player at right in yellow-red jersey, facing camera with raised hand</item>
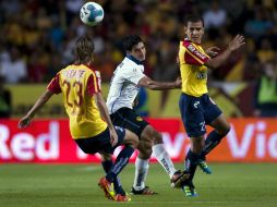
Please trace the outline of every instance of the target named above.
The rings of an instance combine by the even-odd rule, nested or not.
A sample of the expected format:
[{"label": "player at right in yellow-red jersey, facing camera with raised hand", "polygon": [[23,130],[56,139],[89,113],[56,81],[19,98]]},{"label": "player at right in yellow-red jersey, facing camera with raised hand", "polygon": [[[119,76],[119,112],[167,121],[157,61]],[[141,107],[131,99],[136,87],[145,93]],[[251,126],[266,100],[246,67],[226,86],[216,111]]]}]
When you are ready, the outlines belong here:
[{"label": "player at right in yellow-red jersey, facing camera with raised hand", "polygon": [[[195,196],[196,191],[192,183],[196,167],[210,174],[205,157],[215,148],[230,131],[230,124],[221,110],[209,98],[207,90],[207,70],[221,65],[234,50],[244,45],[243,36],[237,35],[220,54],[216,48],[205,52],[202,48],[204,22],[201,16],[192,15],[185,21],[186,38],[180,42],[179,64],[182,77],[182,94],[179,101],[182,121],[191,139],[191,149],[185,157],[185,170],[190,179],[183,182],[182,188],[186,196]],[[206,124],[214,127],[206,139]]]}]

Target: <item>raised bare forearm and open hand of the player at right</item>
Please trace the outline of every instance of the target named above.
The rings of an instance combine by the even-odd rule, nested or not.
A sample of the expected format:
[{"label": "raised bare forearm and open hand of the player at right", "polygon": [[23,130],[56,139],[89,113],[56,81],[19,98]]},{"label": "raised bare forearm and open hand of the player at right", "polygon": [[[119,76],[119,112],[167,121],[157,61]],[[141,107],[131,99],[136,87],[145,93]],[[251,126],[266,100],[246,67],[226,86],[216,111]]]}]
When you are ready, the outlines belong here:
[{"label": "raised bare forearm and open hand of the player at right", "polygon": [[218,66],[220,66],[230,56],[231,53],[239,49],[241,46],[243,46],[245,44],[244,41],[244,37],[241,35],[237,35],[229,44],[228,48],[220,53],[219,56],[217,56],[216,58],[212,58],[209,59],[205,65],[207,65],[208,68],[213,68],[216,69]]}]

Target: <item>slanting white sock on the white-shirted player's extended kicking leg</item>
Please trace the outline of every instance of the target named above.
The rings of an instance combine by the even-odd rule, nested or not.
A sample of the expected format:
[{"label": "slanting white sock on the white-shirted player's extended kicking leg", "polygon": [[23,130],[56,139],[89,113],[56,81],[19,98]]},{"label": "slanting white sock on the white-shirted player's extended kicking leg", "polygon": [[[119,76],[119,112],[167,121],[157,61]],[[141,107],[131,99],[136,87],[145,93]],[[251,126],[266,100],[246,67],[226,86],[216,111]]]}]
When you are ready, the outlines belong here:
[{"label": "slanting white sock on the white-shirted player's extended kicking leg", "polygon": [[154,145],[152,149],[154,157],[159,161],[159,163],[162,166],[171,179],[177,170],[170,156],[166,151],[164,144]]}]

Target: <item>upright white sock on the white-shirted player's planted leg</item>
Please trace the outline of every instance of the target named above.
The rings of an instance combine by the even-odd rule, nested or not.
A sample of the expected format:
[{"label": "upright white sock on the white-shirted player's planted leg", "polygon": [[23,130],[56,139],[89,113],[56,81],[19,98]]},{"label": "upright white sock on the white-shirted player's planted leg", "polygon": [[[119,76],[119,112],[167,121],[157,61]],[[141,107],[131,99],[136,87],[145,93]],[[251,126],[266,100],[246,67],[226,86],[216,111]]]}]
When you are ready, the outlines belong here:
[{"label": "upright white sock on the white-shirted player's planted leg", "polygon": [[148,162],[149,159],[140,159],[138,157],[135,159],[135,175],[133,184],[135,191],[141,191],[145,187],[145,180],[149,168]]}]

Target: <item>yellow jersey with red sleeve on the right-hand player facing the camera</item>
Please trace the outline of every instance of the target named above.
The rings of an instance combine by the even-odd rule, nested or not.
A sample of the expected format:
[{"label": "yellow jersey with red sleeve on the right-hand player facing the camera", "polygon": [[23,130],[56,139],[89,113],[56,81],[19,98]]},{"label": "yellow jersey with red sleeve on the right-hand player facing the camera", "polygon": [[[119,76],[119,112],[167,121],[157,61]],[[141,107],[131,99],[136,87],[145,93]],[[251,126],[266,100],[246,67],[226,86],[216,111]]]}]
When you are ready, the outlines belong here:
[{"label": "yellow jersey with red sleeve on the right-hand player facing the camera", "polygon": [[207,93],[207,66],[209,57],[204,49],[190,40],[180,41],[179,64],[182,77],[182,92],[200,97]]}]

